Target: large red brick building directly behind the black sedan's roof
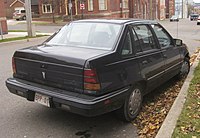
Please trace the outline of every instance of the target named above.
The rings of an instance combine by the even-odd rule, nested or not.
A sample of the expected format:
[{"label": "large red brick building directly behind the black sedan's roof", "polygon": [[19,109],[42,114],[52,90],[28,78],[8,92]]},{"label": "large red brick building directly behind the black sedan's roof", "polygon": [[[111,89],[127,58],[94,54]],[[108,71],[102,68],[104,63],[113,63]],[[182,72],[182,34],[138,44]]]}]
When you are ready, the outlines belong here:
[{"label": "large red brick building directly behind the black sedan's roof", "polygon": [[[156,0],[87,0],[84,2],[84,15],[104,18],[143,18],[157,19]],[[81,14],[80,1],[77,2],[77,15]]]}]

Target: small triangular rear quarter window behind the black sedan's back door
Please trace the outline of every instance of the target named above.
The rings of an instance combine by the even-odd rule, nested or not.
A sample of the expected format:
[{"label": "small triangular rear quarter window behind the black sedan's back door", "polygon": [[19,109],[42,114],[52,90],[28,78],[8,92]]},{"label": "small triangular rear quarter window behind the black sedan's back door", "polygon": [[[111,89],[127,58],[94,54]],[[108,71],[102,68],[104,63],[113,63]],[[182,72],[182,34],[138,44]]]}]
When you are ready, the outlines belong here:
[{"label": "small triangular rear quarter window behind the black sedan's back door", "polygon": [[132,49],[131,34],[130,34],[130,31],[128,31],[124,40],[124,45],[123,45],[121,54],[131,55],[132,53],[133,53],[133,49]]}]

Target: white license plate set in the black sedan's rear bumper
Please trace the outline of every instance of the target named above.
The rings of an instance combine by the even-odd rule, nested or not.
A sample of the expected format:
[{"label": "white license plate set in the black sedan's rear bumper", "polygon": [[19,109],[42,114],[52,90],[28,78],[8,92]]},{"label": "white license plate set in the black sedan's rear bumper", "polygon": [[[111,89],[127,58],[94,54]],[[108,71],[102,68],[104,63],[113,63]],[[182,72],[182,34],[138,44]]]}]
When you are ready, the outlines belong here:
[{"label": "white license plate set in the black sedan's rear bumper", "polygon": [[39,103],[39,104],[42,104],[42,105],[50,107],[50,102],[49,102],[49,97],[48,96],[45,96],[45,95],[42,95],[42,94],[39,94],[39,93],[35,93],[34,101],[36,103]]}]

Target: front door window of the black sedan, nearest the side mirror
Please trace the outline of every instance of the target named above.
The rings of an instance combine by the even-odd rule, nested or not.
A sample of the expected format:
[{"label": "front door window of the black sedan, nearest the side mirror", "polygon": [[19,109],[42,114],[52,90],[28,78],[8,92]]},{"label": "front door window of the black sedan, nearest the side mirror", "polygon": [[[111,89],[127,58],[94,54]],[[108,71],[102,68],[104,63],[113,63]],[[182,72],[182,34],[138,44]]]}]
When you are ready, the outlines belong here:
[{"label": "front door window of the black sedan, nearest the side mirror", "polygon": [[151,25],[161,47],[169,47],[171,42],[170,36],[160,25]]}]

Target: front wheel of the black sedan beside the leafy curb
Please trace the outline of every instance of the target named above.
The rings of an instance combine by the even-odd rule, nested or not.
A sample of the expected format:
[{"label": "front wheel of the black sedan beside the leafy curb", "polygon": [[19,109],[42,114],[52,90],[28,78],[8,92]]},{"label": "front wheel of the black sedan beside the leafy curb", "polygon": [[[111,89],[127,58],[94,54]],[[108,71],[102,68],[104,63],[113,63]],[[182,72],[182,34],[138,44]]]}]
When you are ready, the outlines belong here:
[{"label": "front wheel of the black sedan beside the leafy curb", "polygon": [[181,66],[181,70],[178,74],[178,78],[179,79],[186,78],[189,71],[190,71],[190,61],[189,58],[185,57],[183,64]]}]

